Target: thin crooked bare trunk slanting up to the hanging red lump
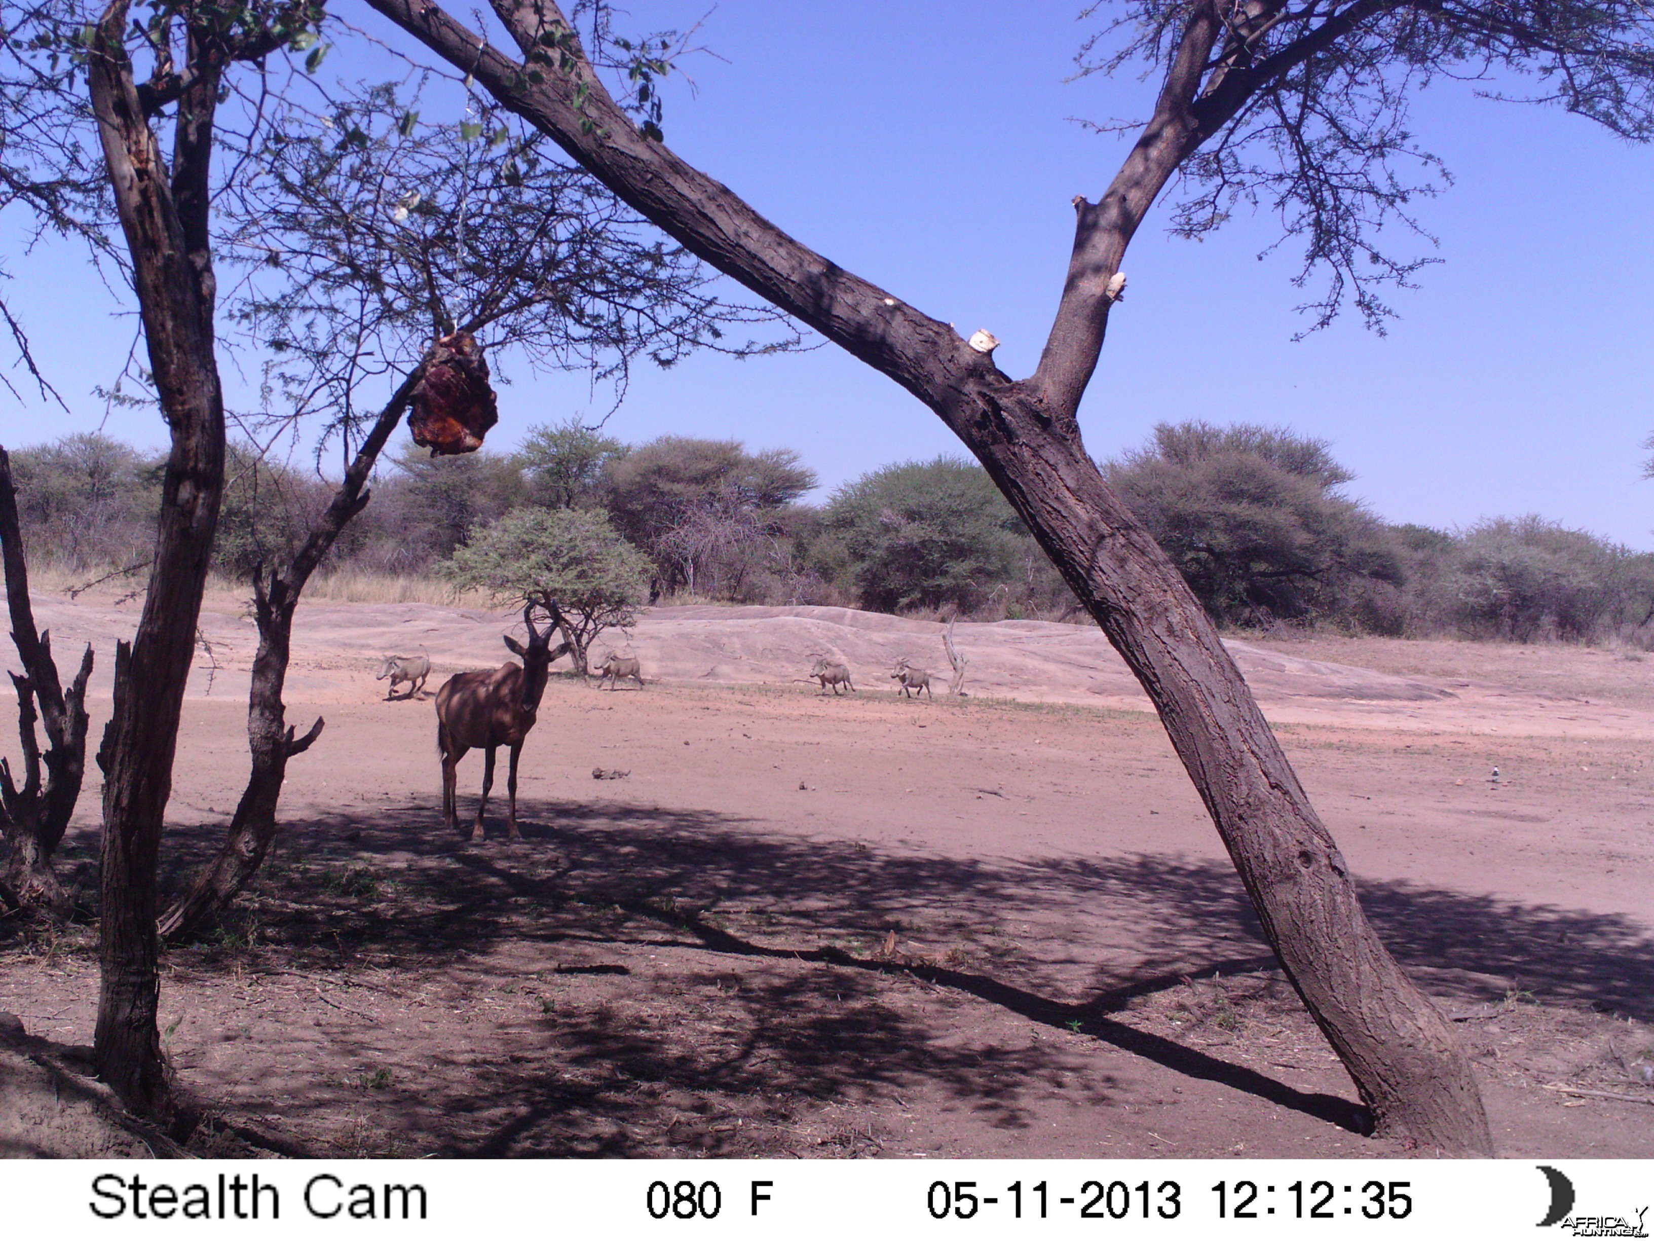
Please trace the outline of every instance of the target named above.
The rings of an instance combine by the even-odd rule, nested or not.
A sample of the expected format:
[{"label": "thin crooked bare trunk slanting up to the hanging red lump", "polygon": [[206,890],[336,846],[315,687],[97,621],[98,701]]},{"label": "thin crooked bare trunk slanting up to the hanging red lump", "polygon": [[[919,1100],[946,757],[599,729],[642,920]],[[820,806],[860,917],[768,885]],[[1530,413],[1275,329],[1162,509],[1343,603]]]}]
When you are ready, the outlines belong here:
[{"label": "thin crooked bare trunk slanting up to the hanging red lump", "polygon": [[334,491],[332,503],[327,505],[327,511],[311,529],[309,538],[304,539],[304,546],[293,556],[286,571],[271,573],[268,581],[261,569],[253,574],[258,654],[253,657],[253,683],[246,698],[246,743],[253,768],[241,801],[237,803],[235,816],[230,819],[223,846],[197,872],[184,895],[162,915],[159,925],[162,938],[187,940],[200,932],[258,874],[258,867],[263,865],[270,846],[276,839],[276,804],[281,799],[288,759],[304,753],[323,730],[323,720],[318,718],[304,736],[294,736],[296,730],[286,723],[286,705],[281,700],[281,692],[288,675],[293,612],[304,584],[326,558],[334,539],[339,538],[351,518],[367,506],[370,498],[370,493],[364,490],[367,477],[390,434],[397,429],[402,414],[407,412],[423,369],[420,366],[402,381],[390,402],[380,410],[374,429],[357,448],[344,482]]}]

